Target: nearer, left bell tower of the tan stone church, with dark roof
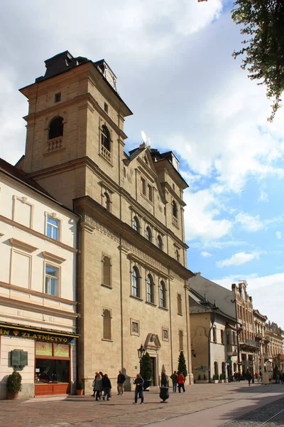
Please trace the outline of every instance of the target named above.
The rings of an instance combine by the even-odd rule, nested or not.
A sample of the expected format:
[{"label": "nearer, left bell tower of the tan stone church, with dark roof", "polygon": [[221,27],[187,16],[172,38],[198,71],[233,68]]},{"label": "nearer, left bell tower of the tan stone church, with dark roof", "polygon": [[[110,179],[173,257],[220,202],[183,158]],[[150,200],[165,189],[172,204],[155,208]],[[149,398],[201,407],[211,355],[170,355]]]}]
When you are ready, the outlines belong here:
[{"label": "nearer, left bell tower of the tan stone church, with dark roof", "polygon": [[26,151],[17,167],[72,207],[72,199],[89,194],[89,169],[104,170],[119,183],[124,118],[132,112],[105,60],[65,51],[45,60],[45,67],[45,75],[20,90],[29,109]]}]

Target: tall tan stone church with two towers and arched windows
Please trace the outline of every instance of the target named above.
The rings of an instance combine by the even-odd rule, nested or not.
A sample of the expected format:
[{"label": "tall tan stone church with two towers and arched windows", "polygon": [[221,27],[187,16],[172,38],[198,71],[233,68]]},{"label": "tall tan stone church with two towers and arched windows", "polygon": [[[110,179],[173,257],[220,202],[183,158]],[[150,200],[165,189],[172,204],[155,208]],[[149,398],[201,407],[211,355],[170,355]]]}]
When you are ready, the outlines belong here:
[{"label": "tall tan stone church with two towers and arched windows", "polygon": [[[104,60],[65,51],[21,89],[28,98],[26,152],[16,165],[81,215],[78,343],[85,393],[95,371],[133,378],[141,343],[153,385],[178,368],[193,383],[184,229],[187,183],[173,152],[145,142],[124,152],[132,114]],[[131,386],[131,381],[129,381]]]}]

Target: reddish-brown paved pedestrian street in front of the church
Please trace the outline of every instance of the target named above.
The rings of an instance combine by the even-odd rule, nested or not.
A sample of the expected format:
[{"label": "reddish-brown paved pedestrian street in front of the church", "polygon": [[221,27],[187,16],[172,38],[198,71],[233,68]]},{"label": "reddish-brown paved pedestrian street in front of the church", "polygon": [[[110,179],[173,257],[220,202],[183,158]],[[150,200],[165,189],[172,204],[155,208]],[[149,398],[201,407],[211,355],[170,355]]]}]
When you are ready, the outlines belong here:
[{"label": "reddish-brown paved pedestrian street in front of the church", "polygon": [[[195,384],[188,386],[185,393],[171,392],[168,404],[160,403],[158,389],[145,393],[144,405],[133,405],[133,394],[133,392],[126,392],[124,396],[116,396],[114,390],[111,401],[98,402],[92,396],[0,401],[0,426],[137,427],[233,402],[238,403],[244,399],[251,400],[251,411],[253,411],[261,401],[265,404],[263,398],[267,394],[274,395],[275,399],[283,397],[284,386],[273,384],[249,387],[247,383]],[[175,421],[178,422],[178,420]],[[226,421],[229,421],[229,418],[222,423]],[[200,427],[203,426],[200,424]]]}]

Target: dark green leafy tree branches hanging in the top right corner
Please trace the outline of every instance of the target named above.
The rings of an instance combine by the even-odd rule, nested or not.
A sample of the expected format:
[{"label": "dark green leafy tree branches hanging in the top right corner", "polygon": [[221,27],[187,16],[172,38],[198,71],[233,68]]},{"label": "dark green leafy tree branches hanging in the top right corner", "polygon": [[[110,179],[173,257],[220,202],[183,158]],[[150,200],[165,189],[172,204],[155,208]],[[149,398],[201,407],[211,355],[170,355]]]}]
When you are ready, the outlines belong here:
[{"label": "dark green leafy tree branches hanging in the top right corner", "polygon": [[283,0],[235,0],[231,17],[242,24],[246,38],[236,58],[244,55],[241,68],[249,71],[251,80],[266,85],[266,96],[273,100],[271,117],[282,106],[284,90],[284,2]]}]

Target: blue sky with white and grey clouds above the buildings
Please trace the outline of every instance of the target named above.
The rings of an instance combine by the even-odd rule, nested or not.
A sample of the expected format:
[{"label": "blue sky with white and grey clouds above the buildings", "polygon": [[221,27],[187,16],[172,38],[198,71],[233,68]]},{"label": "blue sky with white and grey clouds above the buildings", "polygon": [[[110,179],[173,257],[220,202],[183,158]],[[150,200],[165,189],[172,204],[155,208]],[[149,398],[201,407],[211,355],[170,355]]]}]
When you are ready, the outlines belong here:
[{"label": "blue sky with white and grey clouds above the buildings", "polygon": [[185,191],[187,267],[231,289],[246,280],[253,308],[284,327],[284,109],[249,80],[229,0],[9,0],[0,9],[0,157],[24,152],[18,93],[68,50],[104,58],[133,111],[126,152],[173,150]]}]

